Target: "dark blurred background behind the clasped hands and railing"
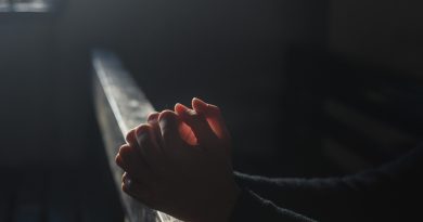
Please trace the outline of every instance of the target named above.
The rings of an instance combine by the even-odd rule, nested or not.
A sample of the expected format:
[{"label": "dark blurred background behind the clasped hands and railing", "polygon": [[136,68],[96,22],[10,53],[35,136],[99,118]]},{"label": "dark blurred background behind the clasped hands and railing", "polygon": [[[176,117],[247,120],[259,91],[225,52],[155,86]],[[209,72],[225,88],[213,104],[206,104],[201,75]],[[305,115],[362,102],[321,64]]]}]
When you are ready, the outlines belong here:
[{"label": "dark blurred background behind the clasped hands and railing", "polygon": [[[73,182],[63,188],[78,194],[74,187],[87,191],[98,179],[104,186],[87,193],[117,201],[107,197],[115,193],[91,102],[95,48],[115,52],[158,110],[193,96],[219,105],[236,170],[318,177],[382,164],[421,139],[419,125],[408,123],[421,115],[403,112],[421,108],[422,6],[412,0],[68,0],[50,13],[0,12],[2,183],[33,187],[27,174],[47,184],[65,174]],[[361,101],[355,90],[362,86],[396,96],[384,110],[406,107],[385,115],[385,123],[399,119],[399,130],[381,127],[362,139],[369,144],[379,136],[377,152],[331,152],[322,130],[347,130],[329,127],[321,105],[338,94]],[[394,88],[396,94],[386,90]],[[362,129],[366,123],[356,132]],[[392,134],[398,140],[390,142]]]}]

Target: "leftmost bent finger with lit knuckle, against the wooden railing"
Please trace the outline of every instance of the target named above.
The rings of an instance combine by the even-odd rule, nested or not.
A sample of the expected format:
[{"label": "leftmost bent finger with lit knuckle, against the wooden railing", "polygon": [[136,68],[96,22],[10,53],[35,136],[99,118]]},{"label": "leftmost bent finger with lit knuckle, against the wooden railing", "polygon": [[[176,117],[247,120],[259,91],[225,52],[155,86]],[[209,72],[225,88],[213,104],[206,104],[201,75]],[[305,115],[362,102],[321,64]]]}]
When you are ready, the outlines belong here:
[{"label": "leftmost bent finger with lit knuckle, against the wooden railing", "polygon": [[120,146],[118,156],[120,159],[119,161],[121,162],[120,167],[136,177],[137,180],[145,180],[145,178],[149,177],[149,166],[130,145],[125,144]]}]

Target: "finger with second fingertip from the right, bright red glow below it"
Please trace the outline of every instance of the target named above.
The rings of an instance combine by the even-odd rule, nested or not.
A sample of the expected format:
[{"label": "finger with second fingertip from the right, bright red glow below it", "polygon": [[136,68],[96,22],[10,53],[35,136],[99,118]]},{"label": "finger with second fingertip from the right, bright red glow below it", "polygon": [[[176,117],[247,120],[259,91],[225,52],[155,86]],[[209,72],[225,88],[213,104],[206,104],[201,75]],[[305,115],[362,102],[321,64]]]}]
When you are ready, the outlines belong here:
[{"label": "finger with second fingertip from the right, bright red glow below it", "polygon": [[209,144],[216,139],[216,135],[204,115],[189,109],[181,104],[177,104],[175,108],[181,119],[192,129],[192,132],[200,144]]}]

